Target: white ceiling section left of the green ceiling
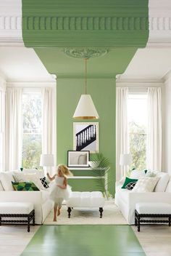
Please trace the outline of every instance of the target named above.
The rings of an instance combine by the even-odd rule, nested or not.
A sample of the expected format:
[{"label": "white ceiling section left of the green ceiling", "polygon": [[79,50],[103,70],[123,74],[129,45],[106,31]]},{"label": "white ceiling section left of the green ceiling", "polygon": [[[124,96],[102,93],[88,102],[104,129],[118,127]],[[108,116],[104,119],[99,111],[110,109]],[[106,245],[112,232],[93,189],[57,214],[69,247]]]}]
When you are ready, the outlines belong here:
[{"label": "white ceiling section left of the green ceiling", "polygon": [[33,49],[0,47],[0,76],[6,81],[54,81]]}]

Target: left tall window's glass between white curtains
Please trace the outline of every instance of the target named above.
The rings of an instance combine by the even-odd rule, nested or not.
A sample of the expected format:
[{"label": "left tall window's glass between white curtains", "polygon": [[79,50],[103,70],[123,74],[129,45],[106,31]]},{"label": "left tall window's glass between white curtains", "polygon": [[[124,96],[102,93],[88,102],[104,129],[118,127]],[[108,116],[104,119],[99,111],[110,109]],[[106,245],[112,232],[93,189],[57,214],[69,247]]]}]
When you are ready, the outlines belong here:
[{"label": "left tall window's glass between white curtains", "polygon": [[41,92],[22,95],[22,167],[39,167],[41,156]]}]

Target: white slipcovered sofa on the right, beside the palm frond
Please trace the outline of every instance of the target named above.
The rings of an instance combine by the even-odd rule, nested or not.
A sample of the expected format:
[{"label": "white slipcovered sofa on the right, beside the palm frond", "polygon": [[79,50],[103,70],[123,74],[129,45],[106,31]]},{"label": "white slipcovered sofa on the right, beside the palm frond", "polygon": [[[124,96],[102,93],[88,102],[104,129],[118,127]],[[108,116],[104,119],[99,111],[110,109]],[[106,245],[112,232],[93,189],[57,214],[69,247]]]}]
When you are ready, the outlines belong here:
[{"label": "white slipcovered sofa on the right, beside the palm frond", "polygon": [[162,202],[171,204],[171,177],[165,172],[159,172],[159,181],[154,192],[133,192],[122,188],[116,183],[115,204],[119,207],[128,224],[135,223],[135,204],[145,202]]}]

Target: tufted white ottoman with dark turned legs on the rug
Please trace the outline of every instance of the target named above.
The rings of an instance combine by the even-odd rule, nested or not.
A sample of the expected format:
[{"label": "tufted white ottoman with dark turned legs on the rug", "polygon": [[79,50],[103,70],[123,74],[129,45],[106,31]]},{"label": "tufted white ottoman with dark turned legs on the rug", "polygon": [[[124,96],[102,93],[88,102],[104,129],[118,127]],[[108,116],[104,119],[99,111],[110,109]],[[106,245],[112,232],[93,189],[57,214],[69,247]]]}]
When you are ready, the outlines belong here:
[{"label": "tufted white ottoman with dark turned legs on the rug", "polygon": [[74,207],[99,208],[100,217],[102,217],[104,202],[104,196],[100,191],[72,192],[66,202],[68,217],[70,217],[72,208]]}]

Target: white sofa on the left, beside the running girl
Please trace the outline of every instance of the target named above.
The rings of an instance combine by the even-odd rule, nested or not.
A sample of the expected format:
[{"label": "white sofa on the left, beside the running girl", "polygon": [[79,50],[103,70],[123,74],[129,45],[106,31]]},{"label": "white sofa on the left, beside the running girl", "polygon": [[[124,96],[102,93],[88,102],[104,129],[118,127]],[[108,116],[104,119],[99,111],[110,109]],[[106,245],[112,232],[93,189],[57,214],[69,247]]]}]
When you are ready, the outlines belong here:
[{"label": "white sofa on the left, beside the running girl", "polygon": [[[39,171],[38,171],[39,172]],[[49,215],[52,201],[49,199],[49,190],[41,191],[14,191],[12,181],[14,172],[0,172],[0,202],[30,202],[35,209],[35,223],[42,224]]]}]

